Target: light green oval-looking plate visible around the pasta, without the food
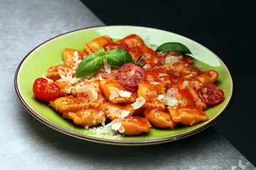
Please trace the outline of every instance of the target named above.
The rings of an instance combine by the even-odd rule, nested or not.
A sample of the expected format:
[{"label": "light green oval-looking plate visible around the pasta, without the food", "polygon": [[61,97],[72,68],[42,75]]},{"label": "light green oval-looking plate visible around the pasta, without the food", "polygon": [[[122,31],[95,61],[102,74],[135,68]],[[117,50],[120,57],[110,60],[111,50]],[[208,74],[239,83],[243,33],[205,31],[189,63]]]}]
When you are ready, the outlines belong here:
[{"label": "light green oval-looking plate visible around the pasta, without the food", "polygon": [[[206,111],[206,114],[209,116],[208,121],[191,127],[179,126],[174,128],[174,130],[151,128],[150,132],[133,137],[110,137],[75,125],[70,120],[62,118],[60,114],[49,108],[46,103],[38,102],[33,96],[33,81],[46,74],[50,66],[60,64],[60,61],[63,61],[63,48],[68,47],[82,50],[83,45],[102,35],[109,35],[111,38],[120,39],[130,34],[137,34],[154,45],[161,45],[164,42],[181,42],[191,50],[193,57],[196,59],[195,62],[202,66],[202,70],[215,69],[219,73],[220,76],[216,84],[224,91],[225,98],[218,105],[208,107]],[[24,57],[16,70],[14,83],[16,94],[23,106],[41,123],[82,140],[112,145],[153,145],[178,140],[200,132],[213,125],[227,111],[233,101],[235,91],[233,77],[228,67],[206,47],[166,30],[139,26],[84,28],[47,40]]]}]

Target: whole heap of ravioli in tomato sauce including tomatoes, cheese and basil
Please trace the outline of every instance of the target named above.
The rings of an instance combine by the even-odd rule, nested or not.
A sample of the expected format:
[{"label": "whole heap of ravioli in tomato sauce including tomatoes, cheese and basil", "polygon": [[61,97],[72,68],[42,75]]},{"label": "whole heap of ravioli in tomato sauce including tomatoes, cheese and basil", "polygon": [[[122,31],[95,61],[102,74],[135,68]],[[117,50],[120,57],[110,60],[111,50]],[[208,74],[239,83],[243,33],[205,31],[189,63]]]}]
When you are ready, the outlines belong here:
[{"label": "whole heap of ravioli in tomato sauce including tomatoes, cheese and basil", "polygon": [[[192,56],[192,57],[191,57]],[[108,35],[83,50],[63,49],[63,63],[33,84],[39,101],[73,123],[108,135],[139,135],[208,120],[223,100],[215,70],[201,71],[179,42],[149,45],[139,35]]]}]

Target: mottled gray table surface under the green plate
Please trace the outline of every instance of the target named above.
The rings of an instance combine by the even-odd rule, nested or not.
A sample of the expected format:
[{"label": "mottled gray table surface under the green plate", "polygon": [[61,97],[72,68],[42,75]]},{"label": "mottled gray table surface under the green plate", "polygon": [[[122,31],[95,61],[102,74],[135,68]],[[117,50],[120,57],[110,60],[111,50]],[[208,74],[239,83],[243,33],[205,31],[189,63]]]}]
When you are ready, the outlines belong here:
[{"label": "mottled gray table surface under the green plate", "polygon": [[104,26],[78,0],[0,4],[0,169],[256,169],[214,128],[161,145],[101,145],[64,135],[33,118],[14,90],[28,52],[70,30]]}]

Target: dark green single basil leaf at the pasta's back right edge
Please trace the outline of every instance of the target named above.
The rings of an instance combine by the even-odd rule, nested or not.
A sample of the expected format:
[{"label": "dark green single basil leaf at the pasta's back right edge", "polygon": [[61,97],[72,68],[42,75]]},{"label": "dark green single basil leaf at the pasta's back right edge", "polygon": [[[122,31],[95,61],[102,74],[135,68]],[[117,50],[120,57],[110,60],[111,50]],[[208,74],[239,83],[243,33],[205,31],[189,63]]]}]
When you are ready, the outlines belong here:
[{"label": "dark green single basil leaf at the pasta's back right edge", "polygon": [[191,51],[188,50],[188,47],[186,47],[185,45],[179,42],[166,42],[160,45],[156,49],[156,52],[167,52],[167,51],[179,51],[179,52],[184,52],[185,54],[192,55]]}]

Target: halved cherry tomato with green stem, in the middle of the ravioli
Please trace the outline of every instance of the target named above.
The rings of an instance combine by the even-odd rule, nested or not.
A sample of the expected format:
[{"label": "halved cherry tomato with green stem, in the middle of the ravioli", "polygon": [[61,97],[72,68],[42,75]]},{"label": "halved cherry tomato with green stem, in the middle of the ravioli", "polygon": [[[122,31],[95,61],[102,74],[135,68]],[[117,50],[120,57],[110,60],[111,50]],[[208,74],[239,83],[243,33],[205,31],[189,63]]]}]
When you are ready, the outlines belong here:
[{"label": "halved cherry tomato with green stem, in the middle of the ravioli", "polygon": [[127,63],[119,68],[117,78],[124,86],[130,89],[136,89],[138,84],[145,78],[144,69],[136,64]]}]

